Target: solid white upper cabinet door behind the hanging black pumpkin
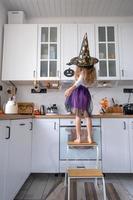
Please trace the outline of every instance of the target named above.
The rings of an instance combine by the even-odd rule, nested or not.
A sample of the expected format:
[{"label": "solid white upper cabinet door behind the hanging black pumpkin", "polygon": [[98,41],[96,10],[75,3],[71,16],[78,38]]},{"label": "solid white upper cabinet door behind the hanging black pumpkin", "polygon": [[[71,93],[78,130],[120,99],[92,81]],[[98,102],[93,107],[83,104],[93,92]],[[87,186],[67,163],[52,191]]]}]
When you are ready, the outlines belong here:
[{"label": "solid white upper cabinet door behind the hanging black pumpkin", "polygon": [[61,80],[74,80],[74,76],[66,77],[64,71],[73,69],[74,65],[66,65],[70,59],[77,56],[77,24],[61,25]]}]

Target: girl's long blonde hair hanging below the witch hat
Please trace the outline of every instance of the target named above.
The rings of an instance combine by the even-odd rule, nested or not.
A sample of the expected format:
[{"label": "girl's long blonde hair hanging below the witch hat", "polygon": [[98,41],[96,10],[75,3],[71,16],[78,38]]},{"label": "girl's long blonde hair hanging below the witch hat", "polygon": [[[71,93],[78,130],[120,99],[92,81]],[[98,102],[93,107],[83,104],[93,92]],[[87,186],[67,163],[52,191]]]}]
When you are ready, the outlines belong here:
[{"label": "girl's long blonde hair hanging below the witch hat", "polygon": [[75,79],[77,80],[80,76],[80,73],[83,72],[84,75],[84,81],[86,84],[92,84],[96,80],[96,69],[95,67],[92,67],[90,69],[83,68],[83,67],[76,67],[75,70]]}]

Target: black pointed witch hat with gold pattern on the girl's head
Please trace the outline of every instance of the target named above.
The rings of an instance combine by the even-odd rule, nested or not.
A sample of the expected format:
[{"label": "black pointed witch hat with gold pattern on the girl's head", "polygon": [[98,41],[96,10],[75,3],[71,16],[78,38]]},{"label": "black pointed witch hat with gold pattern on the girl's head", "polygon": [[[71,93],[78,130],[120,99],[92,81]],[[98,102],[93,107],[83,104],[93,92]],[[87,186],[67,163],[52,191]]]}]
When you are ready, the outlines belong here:
[{"label": "black pointed witch hat with gold pattern on the girl's head", "polygon": [[79,56],[72,58],[70,62],[67,63],[67,65],[77,65],[79,67],[90,69],[97,62],[98,62],[97,58],[90,56],[88,37],[87,37],[87,33],[85,33],[82,44],[81,44]]}]

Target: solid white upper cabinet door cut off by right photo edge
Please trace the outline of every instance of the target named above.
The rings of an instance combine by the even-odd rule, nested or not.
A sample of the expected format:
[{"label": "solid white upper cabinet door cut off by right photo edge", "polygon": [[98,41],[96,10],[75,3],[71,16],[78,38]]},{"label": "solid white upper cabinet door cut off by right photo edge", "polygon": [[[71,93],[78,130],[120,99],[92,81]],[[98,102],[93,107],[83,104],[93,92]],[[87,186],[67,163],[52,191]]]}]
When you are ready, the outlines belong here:
[{"label": "solid white upper cabinet door cut off by right photo edge", "polygon": [[133,24],[119,24],[121,79],[133,80]]}]

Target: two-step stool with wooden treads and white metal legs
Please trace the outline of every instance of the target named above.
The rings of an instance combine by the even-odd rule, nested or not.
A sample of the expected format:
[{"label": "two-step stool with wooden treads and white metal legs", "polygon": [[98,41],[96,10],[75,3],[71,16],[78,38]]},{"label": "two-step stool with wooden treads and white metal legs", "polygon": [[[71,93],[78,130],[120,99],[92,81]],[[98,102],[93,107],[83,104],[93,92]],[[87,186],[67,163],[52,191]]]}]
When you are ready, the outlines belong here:
[{"label": "two-step stool with wooden treads and white metal legs", "polygon": [[97,155],[96,155],[96,166],[94,169],[89,168],[68,168],[67,169],[67,176],[68,176],[68,200],[70,200],[70,187],[71,187],[71,180],[72,179],[91,179],[94,178],[95,180],[101,179],[102,185],[103,185],[103,199],[106,200],[106,189],[105,189],[105,181],[104,181],[104,175],[100,169],[98,169],[98,163],[99,163],[99,149],[98,144],[93,142],[92,144],[89,144],[87,142],[85,143],[74,143],[74,142],[68,142],[68,148],[70,147],[94,147],[96,148]]}]

